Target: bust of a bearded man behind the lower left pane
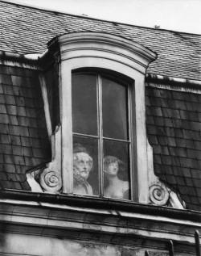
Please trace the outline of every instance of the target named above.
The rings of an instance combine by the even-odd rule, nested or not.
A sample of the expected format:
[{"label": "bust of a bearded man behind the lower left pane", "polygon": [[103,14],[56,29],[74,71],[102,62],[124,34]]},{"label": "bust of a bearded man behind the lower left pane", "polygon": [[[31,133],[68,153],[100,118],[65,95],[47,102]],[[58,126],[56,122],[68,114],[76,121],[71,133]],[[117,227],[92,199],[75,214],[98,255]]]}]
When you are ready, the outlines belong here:
[{"label": "bust of a bearded man behind the lower left pane", "polygon": [[87,149],[80,144],[73,147],[73,192],[81,195],[92,195],[92,187],[88,183],[88,175],[93,161]]}]

